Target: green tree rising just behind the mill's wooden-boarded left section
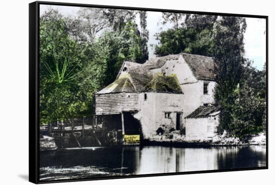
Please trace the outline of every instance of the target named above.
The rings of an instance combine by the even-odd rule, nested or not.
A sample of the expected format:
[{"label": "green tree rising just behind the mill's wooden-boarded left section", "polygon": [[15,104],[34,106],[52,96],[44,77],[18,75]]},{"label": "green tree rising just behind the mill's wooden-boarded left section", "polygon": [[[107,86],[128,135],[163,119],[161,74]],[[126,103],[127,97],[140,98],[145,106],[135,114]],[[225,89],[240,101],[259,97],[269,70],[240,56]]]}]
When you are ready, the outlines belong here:
[{"label": "green tree rising just behind the mill's wooden-boarded left section", "polygon": [[[123,61],[142,61],[141,37],[133,21],[125,23],[121,32],[105,31],[95,43],[96,56],[104,56],[103,86],[115,79]],[[103,87],[102,86],[102,87]]]}]

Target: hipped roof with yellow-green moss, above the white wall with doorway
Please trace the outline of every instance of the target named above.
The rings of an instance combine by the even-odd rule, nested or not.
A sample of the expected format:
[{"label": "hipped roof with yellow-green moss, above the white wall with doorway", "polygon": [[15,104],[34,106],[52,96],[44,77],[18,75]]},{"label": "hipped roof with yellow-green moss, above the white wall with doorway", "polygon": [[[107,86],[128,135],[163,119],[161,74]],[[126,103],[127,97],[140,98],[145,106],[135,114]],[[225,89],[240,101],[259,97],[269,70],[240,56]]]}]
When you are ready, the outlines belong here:
[{"label": "hipped roof with yellow-green moss, above the white wall with doorway", "polygon": [[161,73],[154,75],[142,92],[182,94],[176,76],[163,76]]}]

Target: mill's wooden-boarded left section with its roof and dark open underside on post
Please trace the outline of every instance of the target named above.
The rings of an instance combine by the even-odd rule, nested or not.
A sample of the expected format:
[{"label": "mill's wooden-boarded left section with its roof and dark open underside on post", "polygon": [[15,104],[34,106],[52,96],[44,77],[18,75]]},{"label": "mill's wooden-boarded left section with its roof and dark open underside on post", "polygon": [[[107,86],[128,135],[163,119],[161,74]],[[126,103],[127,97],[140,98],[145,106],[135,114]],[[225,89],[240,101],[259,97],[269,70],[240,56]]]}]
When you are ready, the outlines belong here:
[{"label": "mill's wooden-boarded left section with its roof and dark open underside on post", "polygon": [[115,130],[123,135],[139,135],[139,120],[133,114],[139,111],[138,93],[152,79],[141,64],[124,62],[116,80],[95,94],[96,124],[104,130]]}]

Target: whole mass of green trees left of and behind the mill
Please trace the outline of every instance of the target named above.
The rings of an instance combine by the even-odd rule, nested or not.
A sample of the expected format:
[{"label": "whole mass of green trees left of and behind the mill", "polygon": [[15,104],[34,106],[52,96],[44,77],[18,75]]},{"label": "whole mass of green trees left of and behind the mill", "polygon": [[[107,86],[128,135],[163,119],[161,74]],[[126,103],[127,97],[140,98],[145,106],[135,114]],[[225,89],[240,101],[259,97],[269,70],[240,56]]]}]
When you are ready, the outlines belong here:
[{"label": "whole mass of green trees left of and behind the mill", "polygon": [[[80,8],[78,17],[64,17],[54,9],[41,15],[41,124],[68,120],[79,114],[91,115],[94,93],[114,80],[122,62],[141,62],[146,58],[147,53],[142,53],[146,52],[146,35],[141,41],[136,23],[121,19],[133,19],[135,14]],[[115,15],[118,17],[112,20]],[[143,32],[145,27],[143,22]],[[99,35],[100,31],[103,32]]]}]

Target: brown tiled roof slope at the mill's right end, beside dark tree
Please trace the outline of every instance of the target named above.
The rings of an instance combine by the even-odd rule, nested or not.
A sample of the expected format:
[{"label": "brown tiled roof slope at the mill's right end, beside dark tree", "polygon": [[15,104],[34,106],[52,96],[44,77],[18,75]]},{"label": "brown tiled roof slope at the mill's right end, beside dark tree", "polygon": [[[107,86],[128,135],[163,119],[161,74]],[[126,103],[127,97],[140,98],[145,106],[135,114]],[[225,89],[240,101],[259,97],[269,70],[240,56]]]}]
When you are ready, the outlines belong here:
[{"label": "brown tiled roof slope at the mill's right end, beside dark tree", "polygon": [[214,60],[212,57],[181,53],[182,57],[198,80],[214,80]]}]

